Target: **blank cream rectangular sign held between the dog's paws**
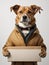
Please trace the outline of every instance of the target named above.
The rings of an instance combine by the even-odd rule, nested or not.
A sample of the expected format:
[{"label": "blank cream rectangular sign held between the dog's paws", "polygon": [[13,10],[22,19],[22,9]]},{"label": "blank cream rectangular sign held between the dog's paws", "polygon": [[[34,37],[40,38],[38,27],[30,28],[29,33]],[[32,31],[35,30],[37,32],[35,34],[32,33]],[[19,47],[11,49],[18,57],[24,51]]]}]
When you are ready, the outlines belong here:
[{"label": "blank cream rectangular sign held between the dog's paws", "polygon": [[8,47],[8,51],[11,56],[8,57],[8,61],[20,61],[20,62],[40,62],[41,58],[39,53],[41,52],[41,47],[39,46],[18,46],[18,47]]}]

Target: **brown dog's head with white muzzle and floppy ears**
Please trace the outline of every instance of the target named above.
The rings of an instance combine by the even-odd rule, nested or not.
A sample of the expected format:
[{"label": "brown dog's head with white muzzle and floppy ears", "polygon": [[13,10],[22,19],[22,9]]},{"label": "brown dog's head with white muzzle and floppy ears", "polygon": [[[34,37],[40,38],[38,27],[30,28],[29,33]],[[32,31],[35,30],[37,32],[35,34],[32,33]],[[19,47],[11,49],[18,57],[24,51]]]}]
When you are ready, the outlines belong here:
[{"label": "brown dog's head with white muzzle and floppy ears", "polygon": [[19,26],[22,27],[30,27],[35,23],[35,17],[34,15],[40,10],[41,7],[36,6],[36,5],[31,5],[30,7],[28,6],[20,6],[20,5],[15,5],[12,6],[11,11],[13,10],[15,12],[16,16],[16,23]]}]

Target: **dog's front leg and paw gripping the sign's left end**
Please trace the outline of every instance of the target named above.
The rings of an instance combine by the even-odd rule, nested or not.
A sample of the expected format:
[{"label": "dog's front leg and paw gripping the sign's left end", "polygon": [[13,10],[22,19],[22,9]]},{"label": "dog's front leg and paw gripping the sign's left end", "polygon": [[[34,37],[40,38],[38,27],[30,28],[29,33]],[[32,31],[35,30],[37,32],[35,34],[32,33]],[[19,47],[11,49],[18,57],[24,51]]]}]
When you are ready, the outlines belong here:
[{"label": "dog's front leg and paw gripping the sign's left end", "polygon": [[10,37],[8,38],[6,44],[5,44],[5,45],[3,46],[3,48],[2,48],[3,56],[5,56],[5,57],[9,57],[9,56],[10,56],[10,53],[9,53],[7,47],[12,46],[12,45],[13,45],[13,44],[12,44],[11,36],[10,36]]}]

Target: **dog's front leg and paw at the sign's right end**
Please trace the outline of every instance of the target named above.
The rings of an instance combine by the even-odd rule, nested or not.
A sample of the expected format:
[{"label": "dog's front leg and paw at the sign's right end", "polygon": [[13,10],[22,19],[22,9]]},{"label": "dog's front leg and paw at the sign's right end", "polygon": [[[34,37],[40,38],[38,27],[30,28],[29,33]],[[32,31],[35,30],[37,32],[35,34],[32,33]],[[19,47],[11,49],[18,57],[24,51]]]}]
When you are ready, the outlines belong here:
[{"label": "dog's front leg and paw at the sign's right end", "polygon": [[39,35],[39,41],[38,41],[38,46],[41,46],[41,53],[39,54],[40,57],[44,58],[46,57],[46,45],[43,43],[42,37]]}]

